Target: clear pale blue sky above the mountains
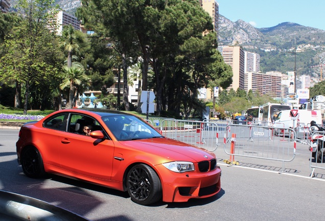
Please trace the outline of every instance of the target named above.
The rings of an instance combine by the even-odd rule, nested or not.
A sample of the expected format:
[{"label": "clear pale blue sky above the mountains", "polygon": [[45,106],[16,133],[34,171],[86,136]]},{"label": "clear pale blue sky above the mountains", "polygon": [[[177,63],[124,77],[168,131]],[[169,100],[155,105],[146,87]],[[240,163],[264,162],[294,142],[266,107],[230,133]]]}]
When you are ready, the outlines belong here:
[{"label": "clear pale blue sky above the mountains", "polygon": [[217,0],[219,14],[231,21],[238,19],[256,28],[270,28],[280,23],[325,30],[324,0]]}]

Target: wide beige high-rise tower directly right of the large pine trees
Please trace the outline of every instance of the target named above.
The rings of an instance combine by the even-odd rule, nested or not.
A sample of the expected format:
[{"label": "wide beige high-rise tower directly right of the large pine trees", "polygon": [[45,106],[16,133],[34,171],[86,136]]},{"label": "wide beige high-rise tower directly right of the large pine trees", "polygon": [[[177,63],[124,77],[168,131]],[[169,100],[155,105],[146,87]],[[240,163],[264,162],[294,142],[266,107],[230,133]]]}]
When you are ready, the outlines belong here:
[{"label": "wide beige high-rise tower directly right of the large pine trees", "polygon": [[223,60],[233,69],[233,83],[228,89],[233,88],[235,91],[245,88],[245,52],[239,46],[219,46]]}]

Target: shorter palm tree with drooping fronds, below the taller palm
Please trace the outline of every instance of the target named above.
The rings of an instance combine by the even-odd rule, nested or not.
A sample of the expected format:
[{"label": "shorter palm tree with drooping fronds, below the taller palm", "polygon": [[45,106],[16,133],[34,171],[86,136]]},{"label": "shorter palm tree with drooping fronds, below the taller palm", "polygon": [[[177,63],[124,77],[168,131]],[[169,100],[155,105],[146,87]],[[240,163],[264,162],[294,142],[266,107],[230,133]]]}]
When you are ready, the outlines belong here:
[{"label": "shorter palm tree with drooping fronds, below the taller palm", "polygon": [[60,89],[69,87],[69,103],[67,106],[73,108],[73,99],[75,94],[78,94],[78,89],[89,85],[90,78],[85,74],[83,66],[78,62],[72,62],[72,67],[63,66],[63,80],[60,84]]}]

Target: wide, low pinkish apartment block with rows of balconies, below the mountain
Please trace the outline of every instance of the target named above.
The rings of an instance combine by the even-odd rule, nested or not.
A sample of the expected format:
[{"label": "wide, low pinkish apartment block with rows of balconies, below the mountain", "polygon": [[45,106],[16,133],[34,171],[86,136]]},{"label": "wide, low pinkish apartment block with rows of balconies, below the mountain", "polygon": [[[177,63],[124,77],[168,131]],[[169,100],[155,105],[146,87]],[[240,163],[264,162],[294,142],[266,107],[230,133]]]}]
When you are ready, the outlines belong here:
[{"label": "wide, low pinkish apartment block with rows of balconies, below the mountain", "polygon": [[259,92],[260,95],[271,95],[282,97],[282,74],[281,73],[245,73],[245,91],[252,90],[253,93]]}]

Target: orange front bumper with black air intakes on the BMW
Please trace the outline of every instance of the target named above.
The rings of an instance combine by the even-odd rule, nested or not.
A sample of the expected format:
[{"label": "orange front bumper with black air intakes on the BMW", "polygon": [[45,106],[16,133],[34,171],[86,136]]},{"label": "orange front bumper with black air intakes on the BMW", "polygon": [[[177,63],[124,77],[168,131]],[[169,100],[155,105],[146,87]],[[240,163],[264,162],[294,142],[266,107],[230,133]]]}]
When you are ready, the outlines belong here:
[{"label": "orange front bumper with black air intakes on the BMW", "polygon": [[[166,168],[157,166],[158,171]],[[160,175],[162,185],[162,201],[187,202],[190,198],[206,198],[217,194],[221,189],[221,169],[217,167],[208,172],[175,173],[167,171]]]}]

